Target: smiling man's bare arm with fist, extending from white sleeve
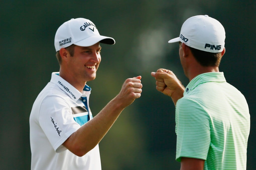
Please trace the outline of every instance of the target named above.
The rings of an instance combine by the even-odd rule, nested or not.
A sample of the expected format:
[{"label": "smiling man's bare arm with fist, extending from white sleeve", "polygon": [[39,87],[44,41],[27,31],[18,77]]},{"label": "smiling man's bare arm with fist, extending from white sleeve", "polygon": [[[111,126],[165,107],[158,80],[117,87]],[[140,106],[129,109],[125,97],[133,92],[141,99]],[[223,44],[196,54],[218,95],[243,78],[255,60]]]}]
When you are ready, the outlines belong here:
[{"label": "smiling man's bare arm with fist, extending from white sleeve", "polygon": [[64,143],[72,153],[83,156],[105,136],[122,110],[141,96],[141,76],[126,79],[120,93],[92,120],[81,126]]}]

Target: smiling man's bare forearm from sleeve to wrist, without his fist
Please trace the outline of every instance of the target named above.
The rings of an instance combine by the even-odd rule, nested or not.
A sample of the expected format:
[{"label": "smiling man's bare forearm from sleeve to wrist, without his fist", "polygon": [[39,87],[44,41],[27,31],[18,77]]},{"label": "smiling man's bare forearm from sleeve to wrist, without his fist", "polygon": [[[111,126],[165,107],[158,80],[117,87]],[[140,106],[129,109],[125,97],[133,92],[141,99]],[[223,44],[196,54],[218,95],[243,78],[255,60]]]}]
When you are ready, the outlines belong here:
[{"label": "smiling man's bare forearm from sleeve to wrist, without his fist", "polygon": [[[105,136],[125,107],[115,97],[92,120],[81,126],[70,136],[69,150],[83,156],[93,149]],[[64,142],[65,143],[65,142]]]}]

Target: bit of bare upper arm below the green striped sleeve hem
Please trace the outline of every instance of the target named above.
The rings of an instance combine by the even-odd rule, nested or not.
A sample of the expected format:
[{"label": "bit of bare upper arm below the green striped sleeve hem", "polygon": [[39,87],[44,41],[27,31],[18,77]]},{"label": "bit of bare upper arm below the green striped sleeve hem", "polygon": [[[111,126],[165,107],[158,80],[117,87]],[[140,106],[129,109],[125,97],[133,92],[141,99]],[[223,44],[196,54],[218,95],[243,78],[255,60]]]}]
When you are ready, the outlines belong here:
[{"label": "bit of bare upper arm below the green striped sleeve hem", "polygon": [[196,158],[181,158],[180,170],[203,170],[205,160]]}]

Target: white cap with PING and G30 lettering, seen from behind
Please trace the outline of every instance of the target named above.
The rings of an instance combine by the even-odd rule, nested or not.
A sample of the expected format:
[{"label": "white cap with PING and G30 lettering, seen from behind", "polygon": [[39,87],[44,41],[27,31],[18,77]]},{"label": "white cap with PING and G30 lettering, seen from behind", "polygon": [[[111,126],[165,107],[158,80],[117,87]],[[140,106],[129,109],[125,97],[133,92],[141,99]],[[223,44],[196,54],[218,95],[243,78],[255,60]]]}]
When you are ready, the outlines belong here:
[{"label": "white cap with PING and G30 lettering, seen from behind", "polygon": [[180,36],[168,43],[182,42],[189,47],[211,53],[222,52],[225,45],[225,29],[208,15],[188,18],[182,25]]}]

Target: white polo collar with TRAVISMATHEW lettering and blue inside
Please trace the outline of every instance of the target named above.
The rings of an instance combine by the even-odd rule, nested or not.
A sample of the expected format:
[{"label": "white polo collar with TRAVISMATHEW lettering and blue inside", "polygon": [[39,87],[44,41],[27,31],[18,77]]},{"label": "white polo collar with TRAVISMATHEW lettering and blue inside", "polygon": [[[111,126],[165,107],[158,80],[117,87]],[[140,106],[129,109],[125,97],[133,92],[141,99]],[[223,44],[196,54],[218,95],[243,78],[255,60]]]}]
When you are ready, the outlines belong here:
[{"label": "white polo collar with TRAVISMATHEW lettering and blue inside", "polygon": [[51,74],[51,81],[52,83],[56,84],[60,89],[65,91],[67,95],[74,100],[75,102],[82,96],[82,95],[89,95],[91,92],[91,88],[88,85],[85,85],[83,88],[83,93],[78,91],[74,86],[69,84],[66,80],[59,76],[59,72],[53,72]]}]

